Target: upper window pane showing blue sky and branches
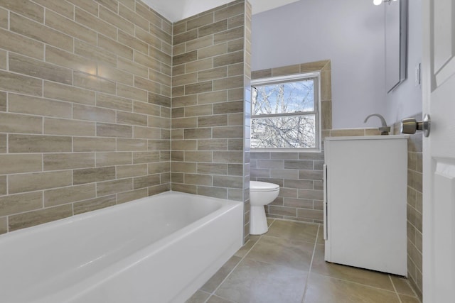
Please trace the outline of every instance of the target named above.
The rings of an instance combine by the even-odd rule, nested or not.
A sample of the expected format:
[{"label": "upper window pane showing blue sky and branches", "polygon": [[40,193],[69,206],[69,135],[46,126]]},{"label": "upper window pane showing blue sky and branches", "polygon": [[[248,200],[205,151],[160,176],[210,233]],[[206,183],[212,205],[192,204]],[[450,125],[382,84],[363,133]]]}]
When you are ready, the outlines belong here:
[{"label": "upper window pane showing blue sky and branches", "polygon": [[252,89],[252,115],[314,111],[314,79]]}]

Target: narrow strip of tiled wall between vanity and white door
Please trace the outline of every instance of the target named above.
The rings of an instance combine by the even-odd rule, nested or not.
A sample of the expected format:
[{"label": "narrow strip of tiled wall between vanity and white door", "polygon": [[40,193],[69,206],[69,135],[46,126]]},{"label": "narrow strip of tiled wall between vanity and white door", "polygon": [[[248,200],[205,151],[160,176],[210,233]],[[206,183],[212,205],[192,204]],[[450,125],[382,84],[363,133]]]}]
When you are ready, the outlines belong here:
[{"label": "narrow strip of tiled wall between vanity and white door", "polygon": [[[422,113],[413,118],[422,121]],[[400,133],[400,122],[394,133]],[[422,300],[422,132],[407,141],[407,278]]]}]

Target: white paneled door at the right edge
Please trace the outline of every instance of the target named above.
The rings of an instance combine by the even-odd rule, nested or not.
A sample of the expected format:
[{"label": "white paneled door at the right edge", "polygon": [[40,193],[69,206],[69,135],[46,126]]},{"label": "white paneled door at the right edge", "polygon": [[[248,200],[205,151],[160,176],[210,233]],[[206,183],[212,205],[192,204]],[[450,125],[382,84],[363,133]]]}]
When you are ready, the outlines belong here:
[{"label": "white paneled door at the right edge", "polygon": [[455,0],[423,1],[424,303],[455,302]]}]

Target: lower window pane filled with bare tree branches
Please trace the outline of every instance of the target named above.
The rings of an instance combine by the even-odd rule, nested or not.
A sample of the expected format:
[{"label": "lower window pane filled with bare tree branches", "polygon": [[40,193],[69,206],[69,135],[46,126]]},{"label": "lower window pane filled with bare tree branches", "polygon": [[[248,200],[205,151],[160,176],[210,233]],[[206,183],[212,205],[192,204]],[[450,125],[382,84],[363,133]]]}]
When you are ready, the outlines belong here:
[{"label": "lower window pane filled with bare tree branches", "polygon": [[257,118],[251,124],[252,148],[316,148],[314,115]]}]

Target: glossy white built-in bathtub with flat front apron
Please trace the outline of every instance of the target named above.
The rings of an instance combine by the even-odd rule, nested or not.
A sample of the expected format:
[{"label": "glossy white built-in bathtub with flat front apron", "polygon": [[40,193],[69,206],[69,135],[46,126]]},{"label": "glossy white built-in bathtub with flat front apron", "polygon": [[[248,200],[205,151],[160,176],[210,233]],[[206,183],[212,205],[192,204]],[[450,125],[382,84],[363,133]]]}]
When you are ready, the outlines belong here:
[{"label": "glossy white built-in bathtub with flat front apron", "polygon": [[0,302],[185,302],[242,231],[241,202],[165,192],[6,233]]}]

